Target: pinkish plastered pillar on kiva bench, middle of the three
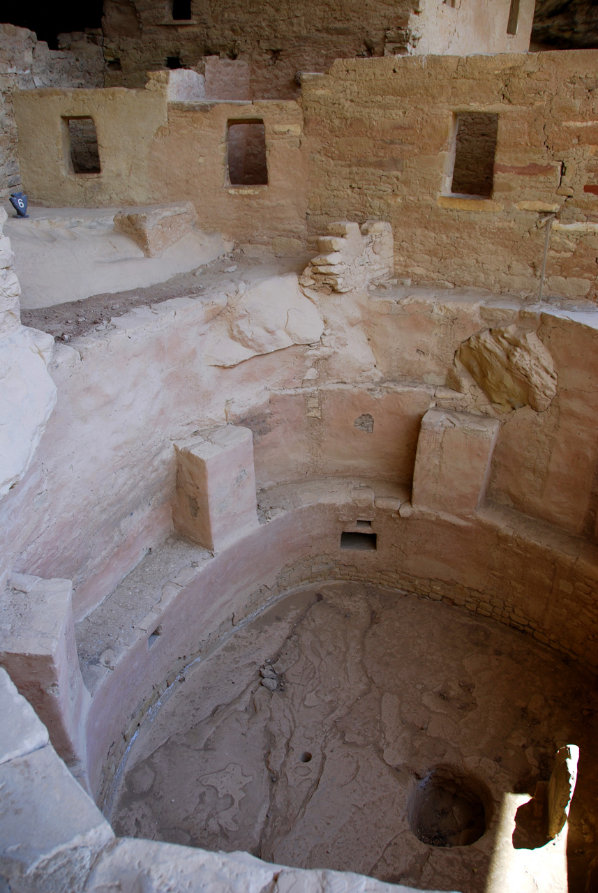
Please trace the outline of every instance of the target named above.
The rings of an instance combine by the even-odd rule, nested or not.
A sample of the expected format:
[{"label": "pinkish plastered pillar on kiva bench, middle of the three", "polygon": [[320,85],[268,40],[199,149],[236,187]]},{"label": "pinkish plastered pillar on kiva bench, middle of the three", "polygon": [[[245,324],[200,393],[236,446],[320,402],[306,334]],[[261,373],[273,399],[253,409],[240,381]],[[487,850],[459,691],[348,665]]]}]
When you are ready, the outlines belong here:
[{"label": "pinkish plastered pillar on kiva bench, middle of the three", "polygon": [[175,449],[172,517],[179,533],[218,552],[258,526],[251,430],[213,428]]}]

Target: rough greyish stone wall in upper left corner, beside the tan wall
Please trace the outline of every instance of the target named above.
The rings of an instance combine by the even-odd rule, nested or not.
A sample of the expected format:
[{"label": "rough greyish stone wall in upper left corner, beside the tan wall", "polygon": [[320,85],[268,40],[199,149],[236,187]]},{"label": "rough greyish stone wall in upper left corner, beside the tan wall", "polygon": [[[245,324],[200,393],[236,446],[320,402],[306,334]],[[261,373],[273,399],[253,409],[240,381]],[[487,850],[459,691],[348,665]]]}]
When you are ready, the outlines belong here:
[{"label": "rough greyish stone wall in upper left corner, beside the tan wall", "polygon": [[12,191],[27,191],[17,157],[18,133],[12,91],[41,87],[102,87],[102,47],[85,35],[70,49],[50,50],[33,31],[0,25],[0,199]]}]

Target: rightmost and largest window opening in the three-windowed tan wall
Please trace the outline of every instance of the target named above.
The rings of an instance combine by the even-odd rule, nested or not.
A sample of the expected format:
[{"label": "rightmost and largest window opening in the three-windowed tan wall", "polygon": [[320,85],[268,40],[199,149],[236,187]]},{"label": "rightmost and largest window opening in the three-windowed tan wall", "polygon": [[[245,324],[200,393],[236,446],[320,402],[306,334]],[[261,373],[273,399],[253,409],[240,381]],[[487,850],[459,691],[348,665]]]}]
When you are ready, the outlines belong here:
[{"label": "rightmost and largest window opening in the three-windowed tan wall", "polygon": [[453,195],[476,198],[492,195],[497,132],[497,114],[472,112],[457,116]]}]

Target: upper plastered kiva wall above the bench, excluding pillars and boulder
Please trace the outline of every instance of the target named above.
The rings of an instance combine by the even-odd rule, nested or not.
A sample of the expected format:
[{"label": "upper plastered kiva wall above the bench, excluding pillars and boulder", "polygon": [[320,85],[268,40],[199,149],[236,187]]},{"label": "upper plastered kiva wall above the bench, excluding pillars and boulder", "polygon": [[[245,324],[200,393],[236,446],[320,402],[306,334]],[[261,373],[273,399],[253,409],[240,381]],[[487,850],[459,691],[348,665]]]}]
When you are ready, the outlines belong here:
[{"label": "upper plastered kiva wall above the bench, excluding pillars and boulder", "polygon": [[[275,280],[278,300],[292,280]],[[270,302],[269,280],[256,292]],[[496,503],[594,539],[593,314],[441,293],[323,296],[320,342],[270,341],[229,365],[220,327],[236,301],[206,290],[54,348],[56,408],[35,463],[0,503],[4,575],[73,580],[75,614],[87,613],[171,530],[173,441],[214,424],[253,430],[258,488],[340,476],[401,485],[409,498],[430,405],[501,422],[488,490]],[[454,377],[464,341],[510,323],[537,331],[552,355],[558,384],[544,412],[497,411],[473,380]],[[363,415],[371,432],[359,427]]]}]

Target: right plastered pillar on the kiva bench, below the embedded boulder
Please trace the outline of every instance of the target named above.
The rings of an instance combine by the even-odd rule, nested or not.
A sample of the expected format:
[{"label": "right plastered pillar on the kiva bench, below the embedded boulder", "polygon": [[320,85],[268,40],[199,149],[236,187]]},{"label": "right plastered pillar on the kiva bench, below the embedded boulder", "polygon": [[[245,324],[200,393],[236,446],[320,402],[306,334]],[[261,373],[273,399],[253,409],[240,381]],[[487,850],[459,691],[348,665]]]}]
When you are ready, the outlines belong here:
[{"label": "right plastered pillar on the kiva bench, below the embedded boulder", "polygon": [[429,409],[419,430],[412,504],[473,514],[486,493],[499,427],[486,415]]}]

